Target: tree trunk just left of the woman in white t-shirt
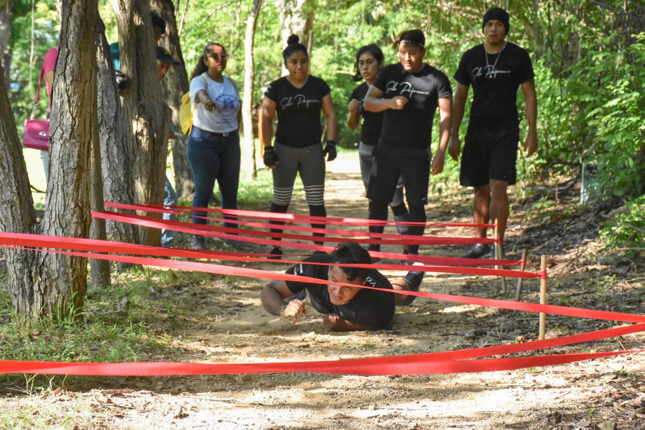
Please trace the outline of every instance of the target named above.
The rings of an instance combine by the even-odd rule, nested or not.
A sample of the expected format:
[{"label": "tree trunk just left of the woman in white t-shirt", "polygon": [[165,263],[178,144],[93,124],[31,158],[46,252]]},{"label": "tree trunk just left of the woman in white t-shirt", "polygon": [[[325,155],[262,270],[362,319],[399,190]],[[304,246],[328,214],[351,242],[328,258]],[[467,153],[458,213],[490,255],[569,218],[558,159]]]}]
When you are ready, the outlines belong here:
[{"label": "tree trunk just left of the woman in white t-shirt", "polygon": [[172,57],[181,63],[168,70],[168,74],[161,81],[161,88],[164,100],[172,111],[172,124],[175,124],[175,135],[177,136],[177,139],[171,141],[175,191],[180,199],[188,199],[195,191],[195,182],[193,182],[193,172],[190,170],[190,163],[186,155],[188,137],[181,134],[179,129],[179,106],[181,105],[181,96],[188,91],[188,73],[186,73],[186,63],[181,53],[181,46],[179,46],[177,19],[172,0],[152,0],[150,5],[159,16],[166,20],[166,34],[161,38],[161,44]]}]

